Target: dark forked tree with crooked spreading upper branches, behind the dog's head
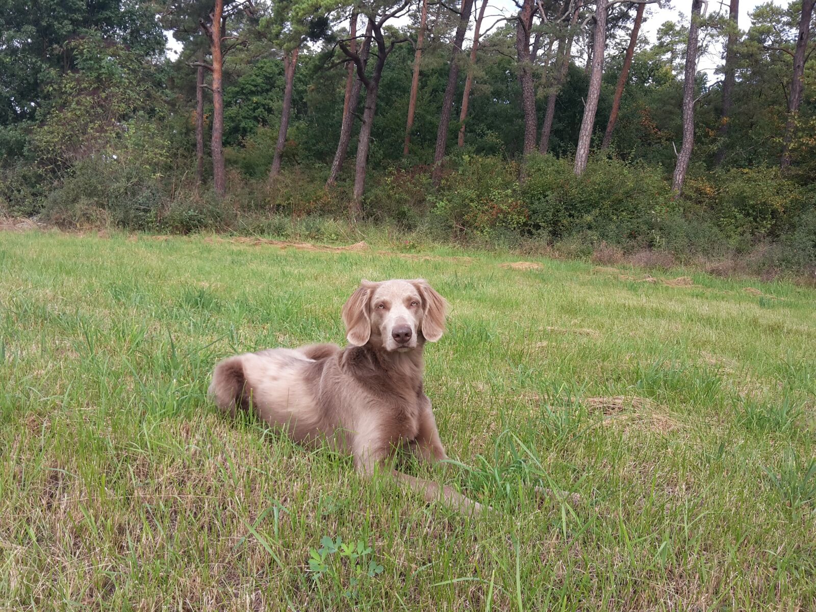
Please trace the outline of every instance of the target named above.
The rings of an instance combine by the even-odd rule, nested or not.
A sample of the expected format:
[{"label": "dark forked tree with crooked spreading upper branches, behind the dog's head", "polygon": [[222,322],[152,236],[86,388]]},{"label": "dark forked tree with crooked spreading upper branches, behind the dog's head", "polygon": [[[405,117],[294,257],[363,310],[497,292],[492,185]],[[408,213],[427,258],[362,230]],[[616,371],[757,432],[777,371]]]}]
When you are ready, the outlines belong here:
[{"label": "dark forked tree with crooked spreading upper branches, behind the dog's head", "polygon": [[[385,7],[375,6],[369,8],[370,12],[368,12],[367,16],[371,24],[371,36],[377,43],[377,61],[370,77],[366,77],[366,63],[362,61],[360,55],[354,53],[344,41],[339,42],[340,49],[357,65],[357,78],[366,86],[366,103],[363,107],[362,125],[357,140],[357,159],[354,164],[354,190],[350,205],[352,215],[360,213],[362,195],[366,188],[366,164],[368,162],[371,126],[374,123],[374,114],[377,107],[377,92],[379,89],[379,81],[383,77],[385,60],[388,59],[388,55],[394,50],[394,47],[398,43],[407,42],[408,40],[407,38],[397,39],[391,37],[390,42],[387,44],[383,27],[388,20],[401,16],[409,3],[410,0],[402,0],[397,7],[391,4]],[[380,13],[382,16],[380,16]]]}]

